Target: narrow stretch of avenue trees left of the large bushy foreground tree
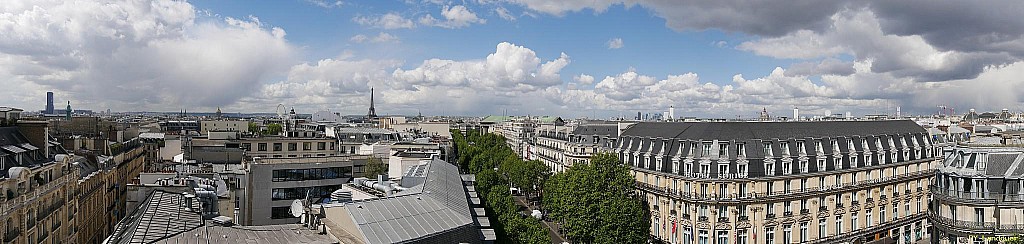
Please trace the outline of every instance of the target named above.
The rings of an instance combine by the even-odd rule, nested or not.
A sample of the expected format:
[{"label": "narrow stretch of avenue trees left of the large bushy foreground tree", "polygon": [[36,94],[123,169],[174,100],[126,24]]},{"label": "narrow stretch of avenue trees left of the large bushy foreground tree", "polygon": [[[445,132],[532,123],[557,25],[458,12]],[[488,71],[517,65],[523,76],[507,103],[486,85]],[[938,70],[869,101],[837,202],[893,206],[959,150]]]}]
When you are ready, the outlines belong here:
[{"label": "narrow stretch of avenue trees left of the large bushy foreground tree", "polygon": [[543,186],[547,167],[516,157],[500,135],[476,130],[468,131],[466,136],[458,130],[452,134],[460,169],[476,174],[476,191],[483,198],[499,243],[551,243],[541,221],[525,216],[509,190],[515,186],[527,196],[537,194],[536,187]]}]

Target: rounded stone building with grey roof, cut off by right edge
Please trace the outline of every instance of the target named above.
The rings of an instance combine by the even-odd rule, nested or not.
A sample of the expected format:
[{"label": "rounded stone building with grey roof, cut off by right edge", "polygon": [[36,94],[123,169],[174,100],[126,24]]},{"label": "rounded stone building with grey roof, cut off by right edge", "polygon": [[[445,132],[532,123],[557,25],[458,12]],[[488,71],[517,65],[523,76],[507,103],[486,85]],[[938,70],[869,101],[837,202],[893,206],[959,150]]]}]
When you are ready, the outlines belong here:
[{"label": "rounded stone building with grey roof, cut off by right edge", "polygon": [[957,147],[935,172],[933,243],[991,243],[1024,233],[1024,148]]}]

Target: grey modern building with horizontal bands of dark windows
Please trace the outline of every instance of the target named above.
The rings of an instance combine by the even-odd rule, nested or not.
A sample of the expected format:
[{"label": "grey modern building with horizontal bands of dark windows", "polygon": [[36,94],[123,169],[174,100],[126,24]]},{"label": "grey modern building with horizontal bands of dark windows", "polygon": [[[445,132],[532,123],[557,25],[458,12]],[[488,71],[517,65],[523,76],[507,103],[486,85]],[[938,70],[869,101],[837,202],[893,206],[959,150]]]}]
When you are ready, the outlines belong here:
[{"label": "grey modern building with horizontal bands of dark windows", "polygon": [[289,213],[293,200],[329,197],[335,190],[364,176],[366,156],[310,158],[252,158],[246,162],[245,201],[238,223],[265,226],[297,223]]}]

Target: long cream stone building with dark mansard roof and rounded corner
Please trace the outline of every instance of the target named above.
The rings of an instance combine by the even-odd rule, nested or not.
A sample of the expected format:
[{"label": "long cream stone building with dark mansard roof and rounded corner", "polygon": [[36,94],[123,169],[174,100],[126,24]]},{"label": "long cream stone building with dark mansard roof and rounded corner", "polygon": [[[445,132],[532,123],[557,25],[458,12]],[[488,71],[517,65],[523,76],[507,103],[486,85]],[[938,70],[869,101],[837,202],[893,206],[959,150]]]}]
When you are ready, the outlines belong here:
[{"label": "long cream stone building with dark mansard roof and rounded corner", "polygon": [[642,122],[615,153],[669,243],[928,242],[941,158],[906,120]]}]

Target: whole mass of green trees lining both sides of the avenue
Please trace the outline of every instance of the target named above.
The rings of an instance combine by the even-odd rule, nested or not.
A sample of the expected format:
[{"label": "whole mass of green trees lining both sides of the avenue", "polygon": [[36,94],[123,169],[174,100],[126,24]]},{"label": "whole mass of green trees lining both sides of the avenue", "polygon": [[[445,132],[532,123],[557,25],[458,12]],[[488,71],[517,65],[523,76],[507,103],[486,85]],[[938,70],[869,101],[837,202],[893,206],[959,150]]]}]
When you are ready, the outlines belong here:
[{"label": "whole mass of green trees lining both sides of the avenue", "polygon": [[[561,225],[565,238],[573,243],[647,242],[647,204],[635,194],[630,169],[615,155],[596,154],[590,164],[577,164],[552,175],[540,161],[520,160],[501,135],[475,130],[466,136],[460,131],[453,134],[460,167],[476,174],[477,191],[488,196],[488,205],[506,202],[503,196],[512,186],[527,197],[540,196],[548,216]],[[499,196],[492,199],[490,195]]]}]

